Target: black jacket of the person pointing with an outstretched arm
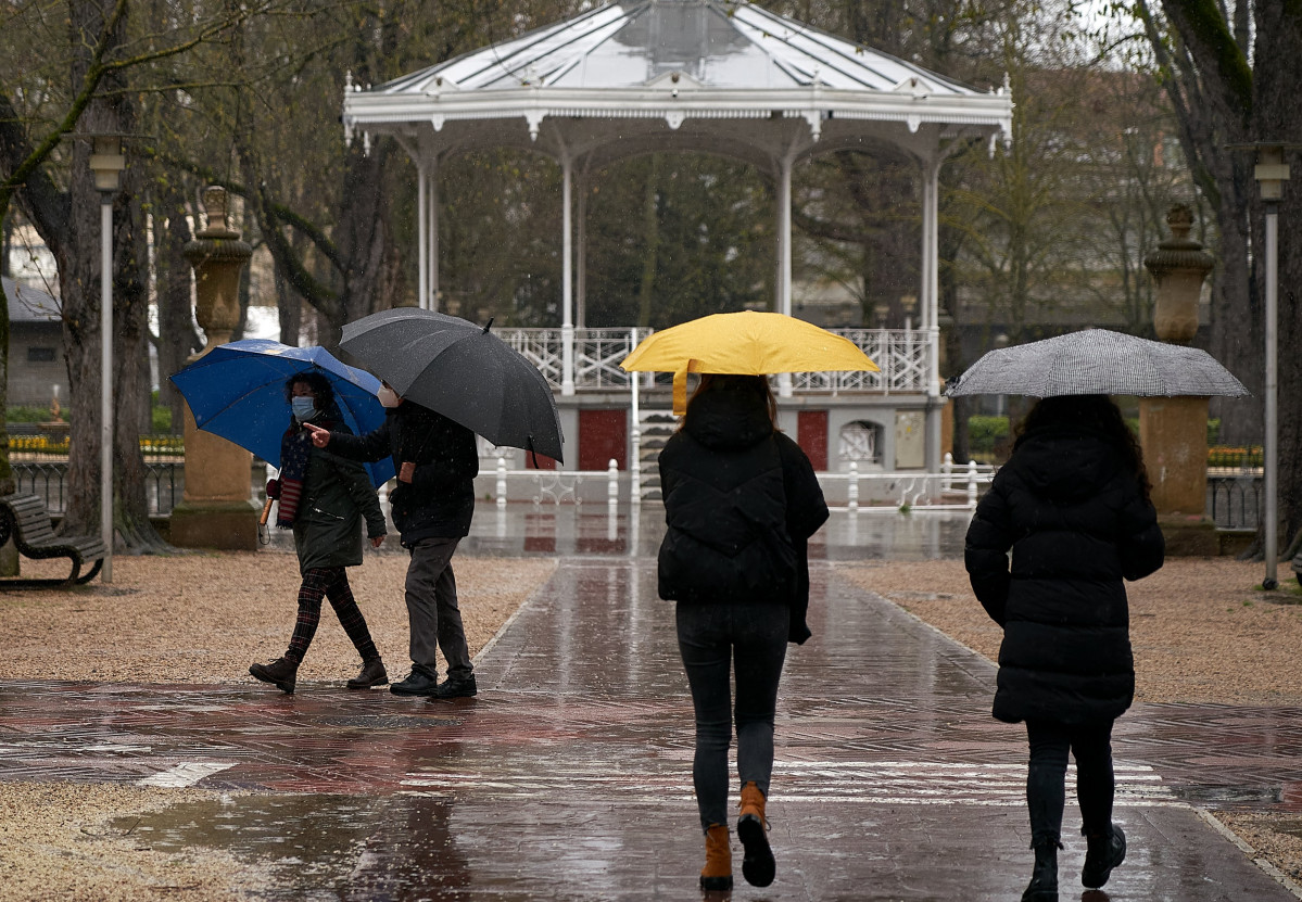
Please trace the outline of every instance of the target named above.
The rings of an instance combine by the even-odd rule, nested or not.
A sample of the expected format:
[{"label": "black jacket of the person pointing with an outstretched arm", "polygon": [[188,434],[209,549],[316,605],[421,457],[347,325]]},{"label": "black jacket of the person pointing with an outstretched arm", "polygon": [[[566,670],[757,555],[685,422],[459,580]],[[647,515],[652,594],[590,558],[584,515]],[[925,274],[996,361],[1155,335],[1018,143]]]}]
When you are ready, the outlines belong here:
[{"label": "black jacket of the person pointing with an outstretched arm", "polygon": [[415,463],[411,482],[398,480],[389,492],[389,513],[405,547],[421,539],[470,534],[479,448],[475,433],[460,423],[404,401],[387,411],[378,430],[363,436],[331,432],[328,449],[353,461],[392,456],[398,471],[404,461]]}]

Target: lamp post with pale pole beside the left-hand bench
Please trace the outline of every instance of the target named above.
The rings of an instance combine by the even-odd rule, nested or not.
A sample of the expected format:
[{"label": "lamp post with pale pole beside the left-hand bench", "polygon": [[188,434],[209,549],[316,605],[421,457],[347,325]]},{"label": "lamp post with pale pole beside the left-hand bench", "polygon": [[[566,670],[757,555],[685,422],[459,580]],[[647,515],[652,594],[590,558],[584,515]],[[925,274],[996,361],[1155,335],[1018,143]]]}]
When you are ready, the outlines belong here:
[{"label": "lamp post with pale pole beside the left-hand bench", "polygon": [[126,157],[120,135],[92,135],[90,171],[99,191],[100,229],[100,440],[99,440],[99,530],[104,541],[100,579],[113,582],[113,195],[122,181]]}]

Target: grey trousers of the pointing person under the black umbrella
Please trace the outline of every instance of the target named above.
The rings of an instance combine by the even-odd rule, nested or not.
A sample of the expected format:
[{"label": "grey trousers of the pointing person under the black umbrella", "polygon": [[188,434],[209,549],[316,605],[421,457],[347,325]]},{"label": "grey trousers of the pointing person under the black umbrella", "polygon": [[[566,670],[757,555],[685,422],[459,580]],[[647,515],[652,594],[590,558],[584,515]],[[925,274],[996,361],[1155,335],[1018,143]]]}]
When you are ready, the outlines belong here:
[{"label": "grey trousers of the pointing person under the black umbrella", "polygon": [[460,538],[430,538],[411,547],[406,578],[411,666],[431,677],[437,674],[436,648],[443,651],[449,677],[465,678],[474,673],[457,607],[457,579],[452,573],[452,553],[460,541]]}]

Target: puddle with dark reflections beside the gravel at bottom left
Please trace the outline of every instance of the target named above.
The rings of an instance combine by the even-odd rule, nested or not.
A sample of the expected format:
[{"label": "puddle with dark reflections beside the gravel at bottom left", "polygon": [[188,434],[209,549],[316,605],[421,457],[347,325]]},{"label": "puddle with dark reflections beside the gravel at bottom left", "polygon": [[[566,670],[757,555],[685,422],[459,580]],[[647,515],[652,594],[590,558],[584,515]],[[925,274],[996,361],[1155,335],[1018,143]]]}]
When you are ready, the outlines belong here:
[{"label": "puddle with dark reflections beside the gravel at bottom left", "polygon": [[452,802],[426,795],[238,795],[126,816],[111,829],[159,851],[206,847],[258,863],[262,899],[457,899],[469,863]]}]

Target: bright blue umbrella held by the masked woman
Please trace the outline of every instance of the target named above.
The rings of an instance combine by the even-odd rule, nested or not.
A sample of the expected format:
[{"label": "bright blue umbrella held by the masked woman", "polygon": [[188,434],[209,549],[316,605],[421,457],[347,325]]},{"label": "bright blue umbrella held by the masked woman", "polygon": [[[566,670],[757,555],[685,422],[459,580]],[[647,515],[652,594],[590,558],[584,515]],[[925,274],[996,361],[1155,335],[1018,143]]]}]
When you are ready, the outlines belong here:
[{"label": "bright blue umbrella held by the masked woman", "polygon": [[[194,424],[280,466],[280,439],[289,426],[285,380],[315,370],[335,387],[344,423],[362,435],[384,422],[375,393],[380,380],[340,363],[324,348],[292,348],[270,338],[217,345],[172,376],[194,414]],[[367,463],[375,485],[393,478],[393,461]]]}]

